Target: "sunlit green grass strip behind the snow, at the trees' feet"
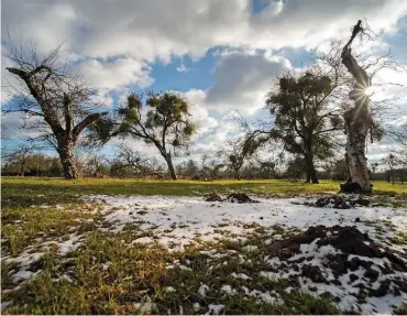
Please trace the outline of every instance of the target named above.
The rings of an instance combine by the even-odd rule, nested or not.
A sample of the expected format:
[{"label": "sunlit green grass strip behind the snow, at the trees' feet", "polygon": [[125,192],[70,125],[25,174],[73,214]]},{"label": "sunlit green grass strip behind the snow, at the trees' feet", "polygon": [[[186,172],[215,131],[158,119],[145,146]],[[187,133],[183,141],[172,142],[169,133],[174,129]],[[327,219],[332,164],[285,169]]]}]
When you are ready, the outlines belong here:
[{"label": "sunlit green grass strip behind the snow, at the trees' feet", "polygon": [[[174,195],[197,196],[207,193],[228,194],[230,192],[246,192],[253,195],[298,195],[338,192],[340,182],[321,181],[320,184],[304,182],[270,181],[143,181],[116,178],[82,178],[65,181],[62,178],[36,177],[3,177],[2,193],[19,189],[19,203],[30,203],[35,194],[46,193],[44,200],[57,198],[69,200],[78,194],[110,195]],[[392,185],[386,182],[374,182],[375,194],[407,194],[407,184]]]}]

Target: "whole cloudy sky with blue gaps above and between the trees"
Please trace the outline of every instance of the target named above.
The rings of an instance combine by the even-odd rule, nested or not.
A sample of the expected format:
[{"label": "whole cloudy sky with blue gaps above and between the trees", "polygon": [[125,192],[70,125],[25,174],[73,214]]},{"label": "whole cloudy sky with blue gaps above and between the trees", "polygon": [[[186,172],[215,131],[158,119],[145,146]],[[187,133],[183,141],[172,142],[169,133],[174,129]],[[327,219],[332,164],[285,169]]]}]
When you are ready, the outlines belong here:
[{"label": "whole cloudy sky with blue gaps above and between the trees", "polygon": [[[405,0],[2,0],[1,44],[7,32],[33,41],[46,54],[64,43],[62,58],[80,66],[84,78],[111,109],[130,90],[174,90],[193,106],[199,132],[191,157],[215,153],[237,134],[230,113],[263,118],[273,76],[309,64],[311,53],[332,40],[349,39],[350,29],[366,19],[378,35],[361,46],[373,56],[392,48],[393,59],[407,67],[407,1]],[[12,84],[1,57],[1,102],[11,101]],[[407,123],[406,73],[384,70],[373,80],[392,81],[382,97],[396,96],[397,120]],[[15,115],[2,117],[12,144],[24,138]],[[129,141],[146,155],[157,151]],[[369,145],[377,161],[395,144]],[[112,145],[103,153],[114,153]]]}]

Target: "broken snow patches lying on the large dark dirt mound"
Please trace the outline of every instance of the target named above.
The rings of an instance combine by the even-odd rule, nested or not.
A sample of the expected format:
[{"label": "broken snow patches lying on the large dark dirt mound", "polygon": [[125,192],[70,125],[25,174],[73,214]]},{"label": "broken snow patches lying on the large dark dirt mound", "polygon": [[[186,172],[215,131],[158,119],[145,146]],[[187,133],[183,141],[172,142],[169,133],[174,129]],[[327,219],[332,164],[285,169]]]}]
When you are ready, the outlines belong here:
[{"label": "broken snow patches lying on the large dark dirt mound", "polygon": [[[315,239],[310,244],[301,244],[300,252],[289,258],[283,266],[283,262],[278,258],[273,258],[266,262],[273,268],[275,272],[262,271],[261,275],[271,280],[289,279],[294,277],[299,281],[299,285],[302,290],[312,291],[317,295],[322,295],[329,292],[333,297],[338,299],[338,307],[341,310],[355,309],[356,313],[362,314],[386,314],[389,315],[393,312],[394,306],[400,306],[403,302],[407,302],[407,293],[400,292],[399,295],[386,294],[380,297],[374,297],[374,295],[367,295],[365,304],[359,304],[358,294],[360,292],[359,286],[363,288],[372,288],[378,291],[382,284],[385,282],[389,283],[389,288],[396,286],[392,281],[403,280],[402,282],[407,282],[407,273],[393,271],[392,273],[382,274],[380,268],[385,268],[386,265],[392,265],[387,258],[367,258],[362,255],[349,255],[348,260],[351,261],[353,258],[359,258],[364,262],[372,262],[372,270],[377,271],[378,277],[376,280],[369,277],[366,274],[366,269],[359,268],[355,271],[348,270],[345,274],[334,276],[332,269],[327,266],[327,255],[328,254],[341,254],[342,252],[334,249],[332,246],[317,247],[319,239]],[[311,259],[311,260],[308,260]],[[322,277],[328,282],[320,281],[314,282],[316,280],[310,280],[309,276],[304,276],[305,266],[312,266],[312,269],[318,268],[318,270],[312,271],[312,274],[321,273]],[[295,269],[294,269],[295,268]],[[302,271],[302,273],[301,273]],[[312,277],[311,277],[312,279]],[[327,284],[328,283],[328,284]],[[358,286],[355,286],[358,284]],[[362,285],[361,285],[362,284]],[[369,293],[369,291],[367,291]]]}]

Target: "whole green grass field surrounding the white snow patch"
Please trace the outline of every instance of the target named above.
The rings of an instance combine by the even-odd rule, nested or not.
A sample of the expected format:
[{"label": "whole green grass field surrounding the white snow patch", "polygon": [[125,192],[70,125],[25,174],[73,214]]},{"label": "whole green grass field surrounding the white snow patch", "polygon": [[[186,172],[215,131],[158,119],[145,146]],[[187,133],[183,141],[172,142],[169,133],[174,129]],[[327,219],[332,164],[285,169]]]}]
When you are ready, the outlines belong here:
[{"label": "whole green grass field surrounding the white snow patch", "polygon": [[[329,295],[316,297],[299,287],[287,292],[286,281],[265,279],[260,273],[265,270],[263,249],[268,247],[267,240],[277,233],[296,233],[295,229],[276,226],[265,231],[261,225],[251,224],[243,242],[229,236],[217,242],[201,241],[183,251],[168,251],[158,243],[134,242],[155,238],[154,230],[142,229],[143,220],[113,230],[100,203],[79,198],[202,196],[212,192],[292,197],[338,192],[337,182],[311,185],[285,181],[67,182],[3,177],[1,183],[3,314],[340,313]],[[406,205],[406,184],[377,182],[374,189],[385,203]],[[143,211],[150,210],[141,210],[138,216],[142,218]],[[406,242],[405,235],[397,238]],[[260,251],[245,250],[248,244],[255,244]],[[219,255],[208,258],[204,254],[208,251]],[[237,279],[232,274],[250,277]],[[233,291],[230,286],[241,290],[227,295]],[[279,298],[270,297],[272,292]]]}]

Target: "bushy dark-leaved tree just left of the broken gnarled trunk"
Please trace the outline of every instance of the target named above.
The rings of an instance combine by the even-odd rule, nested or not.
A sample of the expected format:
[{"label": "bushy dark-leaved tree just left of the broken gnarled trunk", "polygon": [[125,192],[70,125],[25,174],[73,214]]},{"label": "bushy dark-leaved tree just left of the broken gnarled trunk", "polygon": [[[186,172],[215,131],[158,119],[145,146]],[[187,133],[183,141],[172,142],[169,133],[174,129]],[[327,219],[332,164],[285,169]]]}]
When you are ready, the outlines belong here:
[{"label": "bushy dark-leaved tree just left of the broken gnarled trunk", "polygon": [[304,159],[307,182],[318,183],[315,161],[332,154],[336,132],[342,129],[340,110],[330,99],[337,85],[336,78],[312,70],[300,76],[286,74],[279,78],[277,90],[267,96],[274,118],[270,135],[287,152]]}]

